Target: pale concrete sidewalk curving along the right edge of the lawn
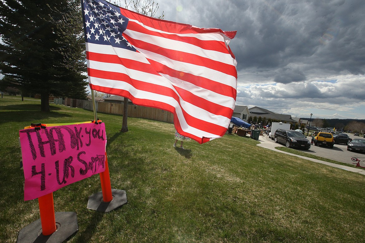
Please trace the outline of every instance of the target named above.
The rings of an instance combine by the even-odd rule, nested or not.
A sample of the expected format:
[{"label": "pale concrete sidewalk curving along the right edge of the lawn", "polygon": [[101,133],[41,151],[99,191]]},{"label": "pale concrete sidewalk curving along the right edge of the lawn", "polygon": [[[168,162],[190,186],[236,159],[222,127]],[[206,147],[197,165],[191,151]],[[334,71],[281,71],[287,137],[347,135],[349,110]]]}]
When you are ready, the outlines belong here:
[{"label": "pale concrete sidewalk curving along the right edge of the lawn", "polygon": [[281,145],[278,145],[278,144],[272,142],[271,141],[271,138],[269,138],[269,136],[267,136],[267,135],[259,136],[259,138],[258,138],[257,141],[260,142],[260,144],[258,144],[257,146],[260,146],[262,148],[271,149],[271,150],[274,150],[276,152],[281,152],[281,153],[289,154],[289,155],[292,155],[292,156],[296,156],[296,157],[299,157],[299,158],[303,158],[305,160],[311,160],[311,161],[316,162],[316,163],[320,163],[320,164],[324,164],[324,165],[329,165],[329,166],[332,166],[332,167],[336,167],[336,168],[339,168],[339,169],[343,169],[345,171],[351,171],[351,172],[355,172],[355,173],[359,173],[359,174],[365,175],[365,170],[364,169],[358,169],[358,168],[353,168],[353,167],[350,167],[350,166],[333,164],[333,163],[326,162],[326,161],[323,161],[323,160],[317,160],[315,158],[309,158],[309,157],[305,157],[305,156],[301,156],[301,155],[297,155],[297,154],[292,154],[292,153],[288,153],[288,152],[284,152],[284,151],[275,149],[275,147],[278,147],[278,146],[281,146]]}]

